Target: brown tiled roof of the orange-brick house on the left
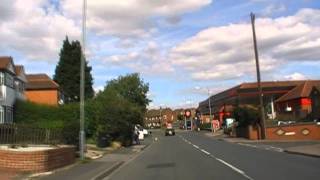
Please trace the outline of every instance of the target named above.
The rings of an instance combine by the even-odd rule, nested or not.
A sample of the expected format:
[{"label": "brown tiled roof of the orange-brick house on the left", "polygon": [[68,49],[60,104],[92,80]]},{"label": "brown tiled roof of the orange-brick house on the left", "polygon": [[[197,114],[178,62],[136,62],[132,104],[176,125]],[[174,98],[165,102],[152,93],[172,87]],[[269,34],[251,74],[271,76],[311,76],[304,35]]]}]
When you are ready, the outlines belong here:
[{"label": "brown tiled roof of the orange-brick house on the left", "polygon": [[28,74],[27,90],[59,89],[59,85],[46,74]]}]

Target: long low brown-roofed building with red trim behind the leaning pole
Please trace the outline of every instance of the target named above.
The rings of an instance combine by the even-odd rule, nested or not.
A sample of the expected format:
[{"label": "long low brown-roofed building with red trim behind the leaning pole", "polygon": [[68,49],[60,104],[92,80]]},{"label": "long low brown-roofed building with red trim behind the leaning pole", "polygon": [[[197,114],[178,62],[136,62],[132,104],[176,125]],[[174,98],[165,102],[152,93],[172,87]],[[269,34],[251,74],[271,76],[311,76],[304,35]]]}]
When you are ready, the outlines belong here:
[{"label": "long low brown-roofed building with red trim behind the leaning pole", "polygon": [[[317,92],[320,87],[320,80],[266,81],[261,82],[261,87],[268,119],[286,115],[291,115],[287,117],[288,119],[292,118],[293,113],[284,111],[284,105],[287,103],[290,105],[289,107],[294,106],[293,109],[296,115],[299,114],[296,119],[306,117],[305,113],[310,116],[311,112],[319,116],[319,95],[317,95]],[[258,107],[257,83],[242,83],[212,95],[210,101],[214,118],[219,119],[220,123],[222,123],[224,118],[231,116],[237,106]],[[209,115],[209,98],[199,103],[198,110],[201,115]]]}]

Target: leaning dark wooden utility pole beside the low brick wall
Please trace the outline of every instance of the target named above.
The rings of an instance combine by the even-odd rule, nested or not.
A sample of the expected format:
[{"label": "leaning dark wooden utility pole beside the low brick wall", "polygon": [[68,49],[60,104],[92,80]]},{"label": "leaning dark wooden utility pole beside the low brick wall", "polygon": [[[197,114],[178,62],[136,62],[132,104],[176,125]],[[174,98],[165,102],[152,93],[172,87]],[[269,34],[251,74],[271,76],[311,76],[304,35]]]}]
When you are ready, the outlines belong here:
[{"label": "leaning dark wooden utility pole beside the low brick wall", "polygon": [[261,138],[266,139],[263,94],[262,94],[262,88],[261,88],[260,66],[259,66],[259,54],[258,54],[256,30],[255,30],[255,15],[251,13],[250,16],[251,16],[251,25],[252,25],[252,33],[253,33],[254,55],[256,60],[257,83],[258,83],[258,91],[259,91],[258,93],[259,93],[259,102],[260,102],[259,109],[260,109]]}]

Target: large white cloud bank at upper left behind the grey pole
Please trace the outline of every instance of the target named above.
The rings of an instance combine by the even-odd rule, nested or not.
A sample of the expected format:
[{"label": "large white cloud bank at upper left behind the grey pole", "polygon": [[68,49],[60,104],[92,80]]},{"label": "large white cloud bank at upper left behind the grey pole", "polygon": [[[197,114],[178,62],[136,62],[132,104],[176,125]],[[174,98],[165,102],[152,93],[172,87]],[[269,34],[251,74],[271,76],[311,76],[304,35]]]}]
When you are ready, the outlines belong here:
[{"label": "large white cloud bank at upper left behind the grey pole", "polygon": [[[120,37],[120,48],[130,48],[139,40],[137,37],[150,37],[157,32],[155,18],[177,19],[183,13],[210,4],[211,0],[90,0],[87,3],[89,33]],[[0,48],[3,52],[18,52],[27,60],[53,62],[58,59],[66,35],[80,39],[81,20],[82,1],[78,0],[0,0],[0,41],[4,42]],[[91,56],[96,54],[90,51]]]}]

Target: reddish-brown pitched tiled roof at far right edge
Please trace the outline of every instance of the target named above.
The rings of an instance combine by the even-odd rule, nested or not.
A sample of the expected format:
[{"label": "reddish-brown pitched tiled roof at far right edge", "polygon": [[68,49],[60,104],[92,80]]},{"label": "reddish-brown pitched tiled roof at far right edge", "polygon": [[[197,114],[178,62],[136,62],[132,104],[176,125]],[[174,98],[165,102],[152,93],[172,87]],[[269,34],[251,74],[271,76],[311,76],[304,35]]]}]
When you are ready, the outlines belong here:
[{"label": "reddish-brown pitched tiled roof at far right edge", "polygon": [[305,81],[304,83],[296,86],[287,94],[281,96],[276,102],[283,102],[297,98],[309,97],[312,89],[316,87],[319,89],[320,81]]}]

